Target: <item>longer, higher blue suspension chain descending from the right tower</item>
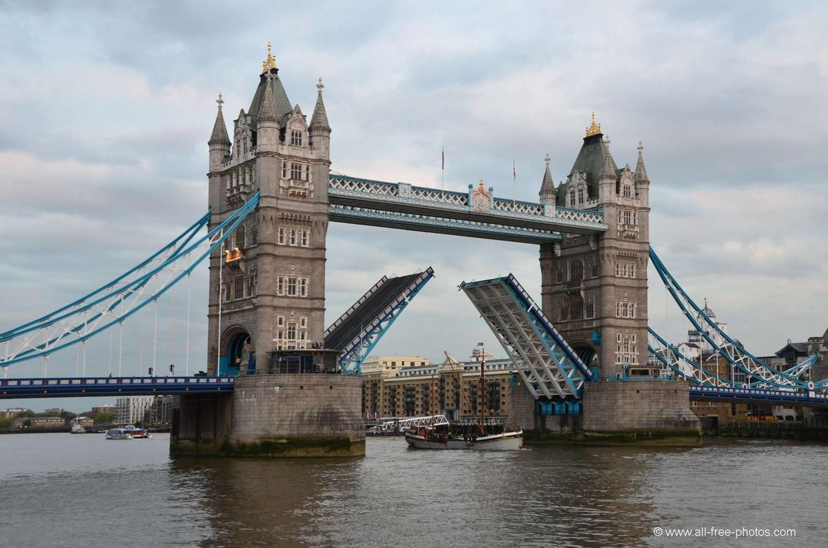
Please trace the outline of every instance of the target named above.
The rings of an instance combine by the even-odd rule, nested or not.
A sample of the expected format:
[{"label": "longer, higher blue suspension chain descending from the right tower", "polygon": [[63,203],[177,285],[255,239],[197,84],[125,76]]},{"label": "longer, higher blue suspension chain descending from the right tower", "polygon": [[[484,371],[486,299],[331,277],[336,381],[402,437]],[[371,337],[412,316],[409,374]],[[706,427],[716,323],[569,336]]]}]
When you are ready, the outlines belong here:
[{"label": "longer, higher blue suspension chain descending from the right tower", "polygon": [[[740,371],[747,373],[750,377],[755,378],[758,380],[759,384],[765,384],[768,386],[773,387],[808,387],[809,382],[802,381],[797,377],[794,377],[788,373],[778,371],[776,368],[764,363],[762,360],[753,356],[752,353],[749,353],[745,350],[741,344],[739,344],[735,339],[731,338],[729,334],[724,333],[722,329],[716,325],[715,321],[710,320],[710,318],[705,315],[705,313],[700,309],[696,302],[694,302],[690,296],[686,294],[686,292],[681,288],[681,285],[676,281],[676,279],[667,271],[667,267],[664,266],[664,263],[661,259],[657,256],[656,252],[650,248],[650,259],[652,260],[653,267],[656,268],[656,272],[658,276],[662,278],[662,282],[664,286],[669,291],[670,295],[673,297],[673,300],[676,301],[676,304],[681,308],[681,311],[686,316],[687,320],[693,324],[693,326],[699,331],[702,337],[716,350],[719,351],[720,355],[722,355],[729,363],[734,365],[734,367],[739,368]],[[710,325],[712,329],[720,334],[722,339],[727,342],[727,347],[724,348],[715,343],[710,337],[709,329],[703,328],[696,317],[691,313],[690,310],[687,309],[687,306],[690,305],[692,310],[696,311],[696,317],[702,318],[706,324]],[[734,353],[734,355],[731,355]],[[813,358],[813,357],[811,357]],[[809,358],[809,359],[811,359]],[[795,368],[805,368],[806,363],[799,363]],[[808,366],[810,367],[810,366]],[[804,369],[803,369],[804,370]],[[801,374],[801,373],[800,373]],[[752,383],[753,384],[753,383]],[[823,379],[818,382],[813,383],[816,387],[828,387],[828,379]]]}]

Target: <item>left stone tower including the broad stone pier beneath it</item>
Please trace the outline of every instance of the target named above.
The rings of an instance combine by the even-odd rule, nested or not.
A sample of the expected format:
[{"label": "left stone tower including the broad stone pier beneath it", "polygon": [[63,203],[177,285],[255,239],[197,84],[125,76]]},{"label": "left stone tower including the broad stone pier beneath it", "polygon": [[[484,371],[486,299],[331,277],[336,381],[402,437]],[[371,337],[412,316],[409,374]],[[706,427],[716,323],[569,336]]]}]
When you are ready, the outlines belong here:
[{"label": "left stone tower including the broad stone pier beneath it", "polygon": [[209,262],[208,373],[233,392],[173,403],[171,454],[365,454],[362,378],[324,349],[330,125],[322,81],[310,124],[291,107],[267,45],[231,141],[219,95],[209,139],[210,227],[260,192]]}]

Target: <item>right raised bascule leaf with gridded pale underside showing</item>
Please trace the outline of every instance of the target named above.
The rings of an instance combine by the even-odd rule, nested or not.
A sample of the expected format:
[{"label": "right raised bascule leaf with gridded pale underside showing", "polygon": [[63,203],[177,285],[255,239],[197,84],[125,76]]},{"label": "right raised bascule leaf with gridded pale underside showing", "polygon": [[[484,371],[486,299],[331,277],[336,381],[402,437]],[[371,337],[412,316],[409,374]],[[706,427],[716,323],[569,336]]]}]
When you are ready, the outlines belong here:
[{"label": "right raised bascule leaf with gridded pale underside showing", "polygon": [[512,274],[460,284],[536,399],[580,399],[593,374]]}]

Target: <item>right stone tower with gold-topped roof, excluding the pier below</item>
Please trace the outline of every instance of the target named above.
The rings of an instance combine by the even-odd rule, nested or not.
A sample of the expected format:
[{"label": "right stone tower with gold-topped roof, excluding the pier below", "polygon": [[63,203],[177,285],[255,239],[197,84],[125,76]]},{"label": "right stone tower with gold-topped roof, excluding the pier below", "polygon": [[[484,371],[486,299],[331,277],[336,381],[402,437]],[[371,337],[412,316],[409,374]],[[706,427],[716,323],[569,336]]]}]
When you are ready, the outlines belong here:
[{"label": "right stone tower with gold-topped roof, excluding the pier below", "polygon": [[599,124],[586,130],[566,182],[556,187],[546,156],[543,204],[599,209],[609,230],[567,234],[541,246],[543,312],[601,378],[653,374],[647,367],[649,187],[643,149],[635,171],[619,167]]}]

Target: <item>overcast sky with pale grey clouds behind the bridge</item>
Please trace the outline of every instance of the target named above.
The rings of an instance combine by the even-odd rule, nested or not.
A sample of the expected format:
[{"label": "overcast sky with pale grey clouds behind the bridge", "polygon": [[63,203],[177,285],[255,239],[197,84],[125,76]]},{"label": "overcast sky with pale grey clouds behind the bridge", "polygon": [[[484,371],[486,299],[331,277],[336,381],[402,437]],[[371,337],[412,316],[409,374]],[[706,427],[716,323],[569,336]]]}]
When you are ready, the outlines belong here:
[{"label": "overcast sky with pale grey clouds behind the bridge", "polygon": [[[446,188],[483,179],[537,201],[544,155],[564,179],[595,110],[619,166],[643,141],[652,246],[692,296],[753,353],[822,334],[828,5],[719,4],[0,2],[0,330],[127,270],[205,212],[214,99],[232,131],[272,41],[308,115],[325,80],[332,169],[349,175],[439,187],[445,147]],[[503,355],[460,281],[513,272],[540,300],[536,246],[335,224],[326,320],[383,274],[428,266],[436,279],[375,353],[465,358],[482,340]],[[665,315],[650,274],[650,323],[677,340],[688,326],[672,304]],[[205,365],[206,291],[204,267],[190,372]],[[176,306],[181,318],[181,293]],[[136,322],[124,373],[147,363]],[[160,335],[159,364],[181,371],[183,329]],[[87,373],[108,373],[102,339]],[[75,373],[68,352],[51,374]]]}]

